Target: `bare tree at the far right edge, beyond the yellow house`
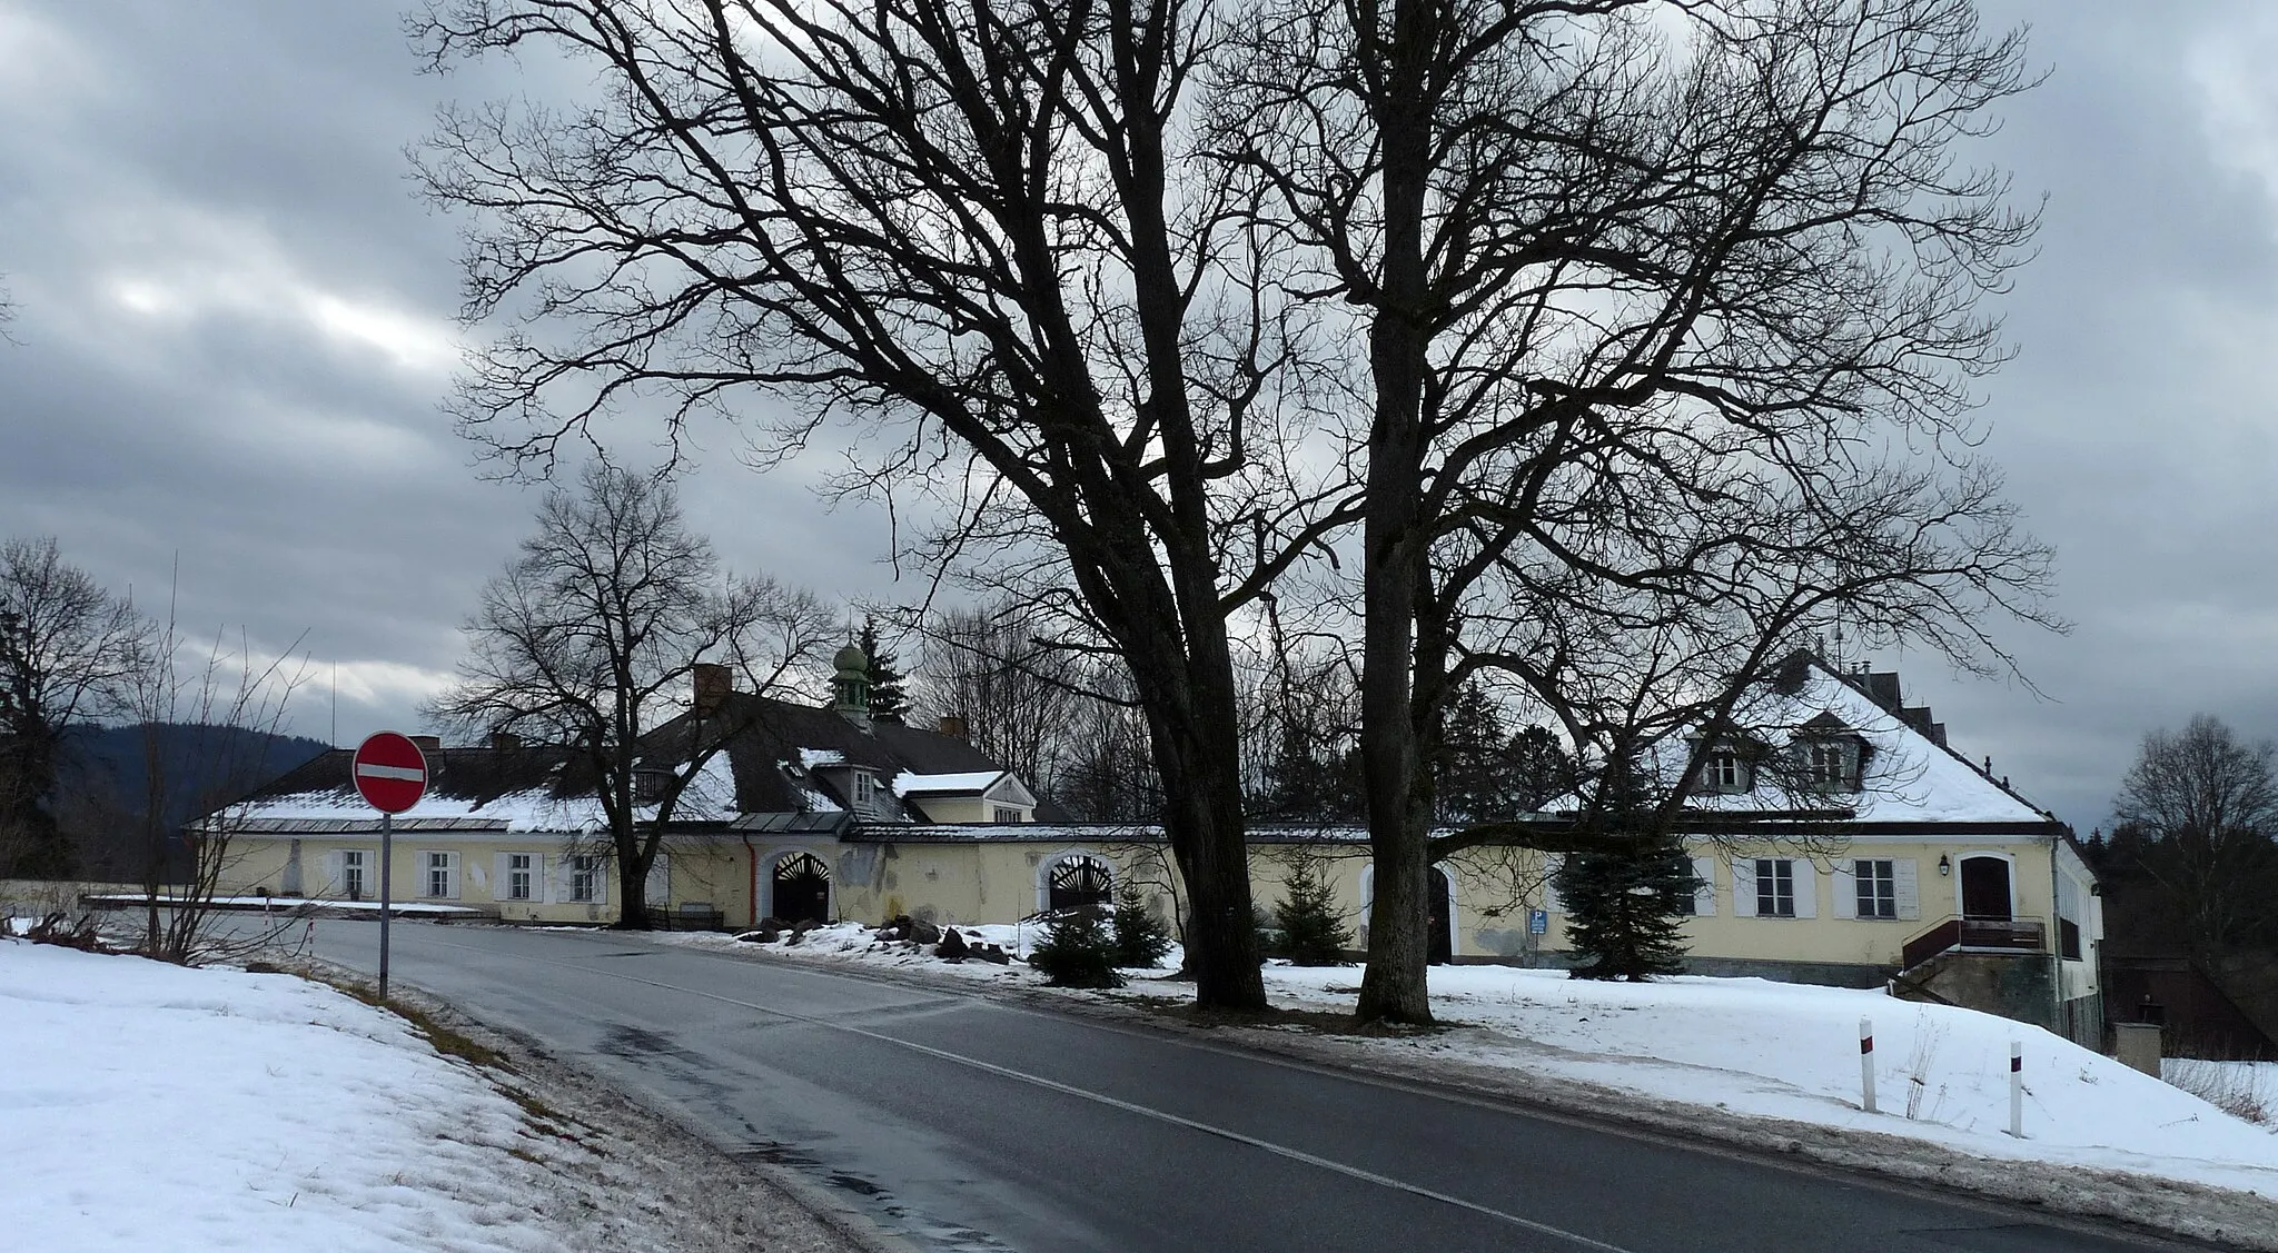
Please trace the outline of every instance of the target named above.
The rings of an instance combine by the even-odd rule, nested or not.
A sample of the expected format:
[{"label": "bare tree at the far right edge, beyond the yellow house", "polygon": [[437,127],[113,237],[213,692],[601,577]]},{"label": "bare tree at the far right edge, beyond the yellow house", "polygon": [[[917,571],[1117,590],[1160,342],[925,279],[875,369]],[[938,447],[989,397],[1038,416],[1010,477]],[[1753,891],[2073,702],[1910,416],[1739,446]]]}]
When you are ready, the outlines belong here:
[{"label": "bare tree at the far right edge, beyond the yellow house", "polygon": [[2182,907],[2191,943],[2221,948],[2267,911],[2278,852],[2278,777],[2269,740],[2244,743],[2196,713],[2150,731],[2121,779],[2114,818],[2137,827],[2137,861]]}]

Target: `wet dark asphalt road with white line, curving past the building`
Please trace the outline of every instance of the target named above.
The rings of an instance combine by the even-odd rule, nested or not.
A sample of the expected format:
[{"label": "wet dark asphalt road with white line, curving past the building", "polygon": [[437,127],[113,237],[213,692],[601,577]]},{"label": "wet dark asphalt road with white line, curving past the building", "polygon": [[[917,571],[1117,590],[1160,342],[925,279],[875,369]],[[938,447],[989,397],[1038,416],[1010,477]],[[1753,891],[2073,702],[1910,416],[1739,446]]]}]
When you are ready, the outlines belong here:
[{"label": "wet dark asphalt road with white line, curving past the building", "polygon": [[[321,920],[378,964],[378,925]],[[394,925],[392,973],[936,1251],[2141,1251],[2119,1232],[1207,1043],[606,932]]]}]

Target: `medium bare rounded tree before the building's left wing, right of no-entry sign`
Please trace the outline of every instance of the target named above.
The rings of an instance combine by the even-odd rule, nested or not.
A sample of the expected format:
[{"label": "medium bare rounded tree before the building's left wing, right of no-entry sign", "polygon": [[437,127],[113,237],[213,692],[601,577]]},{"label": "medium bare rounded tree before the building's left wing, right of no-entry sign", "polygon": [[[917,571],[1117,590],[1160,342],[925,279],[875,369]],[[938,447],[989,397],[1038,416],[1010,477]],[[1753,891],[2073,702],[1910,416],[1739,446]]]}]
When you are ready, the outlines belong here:
[{"label": "medium bare rounded tree before the building's left wing, right of no-entry sign", "polygon": [[670,483],[597,462],[576,488],[547,492],[538,533],[465,624],[460,681],[426,715],[576,752],[606,820],[617,925],[638,929],[665,822],[740,727],[734,711],[690,709],[670,752],[647,752],[649,731],[683,709],[697,665],[729,665],[747,690],[781,695],[836,629],[813,592],[722,576]]}]

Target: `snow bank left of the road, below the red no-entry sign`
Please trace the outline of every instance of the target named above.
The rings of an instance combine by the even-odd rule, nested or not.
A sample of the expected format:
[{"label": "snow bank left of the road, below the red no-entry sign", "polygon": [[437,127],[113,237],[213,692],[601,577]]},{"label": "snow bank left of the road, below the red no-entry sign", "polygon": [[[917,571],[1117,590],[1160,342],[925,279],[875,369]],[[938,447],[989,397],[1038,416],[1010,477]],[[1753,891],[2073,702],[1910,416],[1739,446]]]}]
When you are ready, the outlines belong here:
[{"label": "snow bank left of the road, below the red no-entry sign", "polygon": [[0,1057],[18,1248],[563,1246],[522,1112],[333,989],[0,939]]}]

